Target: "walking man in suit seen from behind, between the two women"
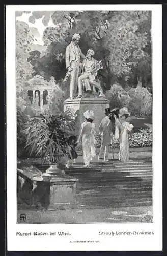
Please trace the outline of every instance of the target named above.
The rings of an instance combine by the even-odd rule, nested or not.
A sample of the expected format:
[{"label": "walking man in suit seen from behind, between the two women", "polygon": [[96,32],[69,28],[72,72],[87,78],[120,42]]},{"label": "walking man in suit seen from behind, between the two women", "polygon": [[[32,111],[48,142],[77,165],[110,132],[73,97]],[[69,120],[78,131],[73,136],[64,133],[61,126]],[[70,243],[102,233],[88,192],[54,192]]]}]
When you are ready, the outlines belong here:
[{"label": "walking man in suit seen from behind, between the two women", "polygon": [[110,108],[105,109],[105,117],[99,125],[99,130],[102,132],[102,140],[98,160],[100,160],[104,151],[104,161],[106,162],[108,161],[108,147],[112,140],[112,122],[110,120],[110,115]]}]

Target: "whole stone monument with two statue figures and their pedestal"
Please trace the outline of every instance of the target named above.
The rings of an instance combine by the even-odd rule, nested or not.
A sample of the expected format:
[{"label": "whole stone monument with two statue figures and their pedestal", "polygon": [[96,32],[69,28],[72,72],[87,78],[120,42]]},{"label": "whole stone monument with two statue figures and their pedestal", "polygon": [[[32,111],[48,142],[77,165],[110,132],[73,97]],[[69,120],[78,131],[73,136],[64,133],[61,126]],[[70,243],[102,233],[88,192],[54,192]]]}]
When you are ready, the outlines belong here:
[{"label": "whole stone monument with two statue figures and their pedestal", "polygon": [[[92,49],[89,49],[86,56],[84,56],[78,46],[79,39],[80,35],[74,34],[70,45],[66,48],[66,68],[68,71],[64,79],[64,81],[67,81],[70,78],[70,98],[64,101],[64,111],[71,110],[76,114],[77,135],[81,123],[84,122],[84,112],[86,110],[94,111],[94,123],[98,133],[99,124],[105,115],[105,109],[109,108],[109,100],[105,98],[97,76],[98,70],[103,69],[102,62],[94,59]],[[81,59],[84,59],[82,63]],[[80,76],[79,71],[76,70],[79,65],[81,66]],[[77,88],[78,95],[76,95]],[[84,91],[89,92],[90,96],[85,95]],[[95,96],[97,93],[98,96]]]}]

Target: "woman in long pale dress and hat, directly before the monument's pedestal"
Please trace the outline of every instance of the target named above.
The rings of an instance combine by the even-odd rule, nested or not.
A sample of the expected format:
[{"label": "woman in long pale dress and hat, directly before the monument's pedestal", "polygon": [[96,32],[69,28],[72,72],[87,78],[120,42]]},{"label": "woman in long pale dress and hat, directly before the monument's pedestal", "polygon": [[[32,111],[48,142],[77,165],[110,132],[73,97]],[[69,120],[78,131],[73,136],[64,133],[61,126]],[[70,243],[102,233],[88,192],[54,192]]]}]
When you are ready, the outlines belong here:
[{"label": "woman in long pale dress and hat, directly before the monument's pedestal", "polygon": [[90,165],[92,157],[96,156],[96,148],[95,148],[95,124],[93,123],[94,112],[92,110],[87,110],[84,113],[84,117],[86,121],[82,123],[81,132],[78,138],[77,143],[79,143],[82,138],[82,149],[85,167]]}]

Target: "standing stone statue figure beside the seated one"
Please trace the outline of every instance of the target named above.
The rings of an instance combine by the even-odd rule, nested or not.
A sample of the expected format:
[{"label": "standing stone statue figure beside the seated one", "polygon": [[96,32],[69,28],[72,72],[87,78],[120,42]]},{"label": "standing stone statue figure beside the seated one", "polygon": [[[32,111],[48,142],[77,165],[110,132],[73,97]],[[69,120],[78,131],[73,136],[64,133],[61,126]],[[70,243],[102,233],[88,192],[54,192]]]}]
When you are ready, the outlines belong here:
[{"label": "standing stone statue figure beside the seated one", "polygon": [[78,46],[79,40],[80,35],[74,34],[72,41],[66,47],[66,68],[70,72],[70,98],[74,98],[76,93],[80,62],[81,59],[85,58],[85,55]]}]

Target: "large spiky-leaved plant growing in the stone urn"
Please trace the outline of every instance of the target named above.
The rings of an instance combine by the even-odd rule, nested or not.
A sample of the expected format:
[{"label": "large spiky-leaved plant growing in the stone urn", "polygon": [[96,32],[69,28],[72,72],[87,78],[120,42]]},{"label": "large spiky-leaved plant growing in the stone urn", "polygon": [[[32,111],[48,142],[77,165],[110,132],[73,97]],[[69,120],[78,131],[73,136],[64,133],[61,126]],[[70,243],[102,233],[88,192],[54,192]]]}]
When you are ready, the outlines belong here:
[{"label": "large spiky-leaved plant growing in the stone urn", "polygon": [[25,148],[30,156],[35,154],[43,161],[57,163],[67,154],[67,140],[74,132],[75,118],[70,111],[56,116],[37,114],[25,126]]}]

